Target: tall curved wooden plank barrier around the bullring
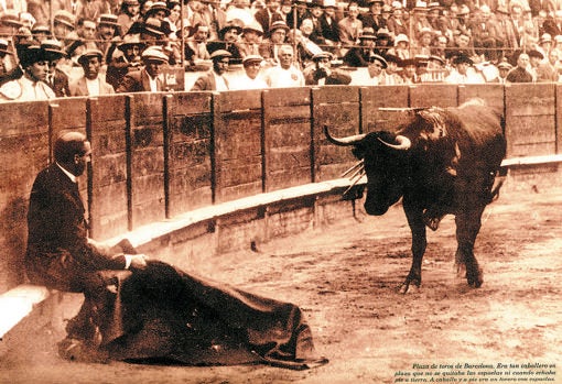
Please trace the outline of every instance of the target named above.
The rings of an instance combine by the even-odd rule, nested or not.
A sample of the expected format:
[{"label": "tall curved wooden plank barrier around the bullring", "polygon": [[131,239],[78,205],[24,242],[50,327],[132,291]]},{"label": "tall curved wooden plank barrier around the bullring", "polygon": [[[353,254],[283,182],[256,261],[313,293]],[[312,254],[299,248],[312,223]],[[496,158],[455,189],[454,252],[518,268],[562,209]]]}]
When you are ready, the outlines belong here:
[{"label": "tall curved wooden plank barrier around the bullring", "polygon": [[[80,188],[91,235],[105,240],[213,205],[337,178],[356,160],[326,141],[324,125],[338,136],[393,131],[410,107],[450,107],[478,97],[505,111],[514,164],[520,163],[517,156],[560,154],[561,89],[552,84],[333,86],[0,103],[0,293],[24,282],[29,194],[62,131],[85,131],[93,143]],[[267,238],[268,228],[280,227],[257,224],[261,219],[302,216],[304,226],[314,204],[292,201],[299,207],[290,211],[284,204],[268,212],[251,208],[219,221],[209,216],[202,231],[225,234],[229,222],[247,220],[244,233]],[[228,248],[234,237],[219,248]]]}]

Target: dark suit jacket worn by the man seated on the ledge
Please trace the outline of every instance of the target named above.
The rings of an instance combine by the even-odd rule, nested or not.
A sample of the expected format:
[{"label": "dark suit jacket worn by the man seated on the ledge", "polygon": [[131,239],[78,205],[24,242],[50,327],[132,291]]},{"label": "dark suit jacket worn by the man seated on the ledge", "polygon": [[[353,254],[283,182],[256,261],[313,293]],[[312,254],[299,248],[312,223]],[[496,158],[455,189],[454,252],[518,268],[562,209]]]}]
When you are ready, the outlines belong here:
[{"label": "dark suit jacket worn by the man seated on the ledge", "polygon": [[33,183],[28,211],[25,267],[31,283],[66,292],[84,292],[88,276],[122,270],[126,260],[88,239],[77,184],[55,163]]}]

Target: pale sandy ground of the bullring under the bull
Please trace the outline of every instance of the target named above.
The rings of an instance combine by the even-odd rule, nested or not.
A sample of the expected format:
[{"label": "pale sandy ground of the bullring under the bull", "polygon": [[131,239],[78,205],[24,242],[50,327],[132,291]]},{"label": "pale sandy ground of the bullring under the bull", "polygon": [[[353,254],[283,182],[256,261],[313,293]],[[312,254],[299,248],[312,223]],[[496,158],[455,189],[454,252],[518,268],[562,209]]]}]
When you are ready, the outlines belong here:
[{"label": "pale sandy ground of the bullring under the bull", "polygon": [[[475,254],[484,285],[456,276],[454,218],[429,232],[422,287],[398,293],[410,268],[400,206],[213,257],[196,273],[298,304],[317,352],[307,371],[264,365],[186,367],[71,363],[45,330],[2,362],[1,383],[393,383],[431,363],[558,363],[562,345],[562,193],[502,195],[483,217]],[[562,375],[558,373],[558,383]]]}]

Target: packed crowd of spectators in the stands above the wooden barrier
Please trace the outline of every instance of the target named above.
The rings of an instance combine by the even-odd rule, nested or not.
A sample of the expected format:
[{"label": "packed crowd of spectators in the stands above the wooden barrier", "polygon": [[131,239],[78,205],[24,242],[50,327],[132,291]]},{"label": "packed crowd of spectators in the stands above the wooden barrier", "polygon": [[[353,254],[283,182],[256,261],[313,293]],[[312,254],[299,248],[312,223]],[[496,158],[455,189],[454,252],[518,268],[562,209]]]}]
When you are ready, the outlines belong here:
[{"label": "packed crowd of spectators in the stands above the wooden barrier", "polygon": [[194,90],[562,73],[561,0],[181,1],[0,0],[0,100],[165,90],[166,65]]}]

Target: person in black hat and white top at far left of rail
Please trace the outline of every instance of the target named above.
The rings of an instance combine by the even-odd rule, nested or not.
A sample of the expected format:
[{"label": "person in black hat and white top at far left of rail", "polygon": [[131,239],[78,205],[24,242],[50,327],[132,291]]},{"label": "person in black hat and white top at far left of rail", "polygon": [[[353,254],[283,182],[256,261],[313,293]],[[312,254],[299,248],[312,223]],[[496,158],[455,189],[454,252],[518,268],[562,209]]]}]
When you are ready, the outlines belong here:
[{"label": "person in black hat and white top at far left of rail", "polygon": [[19,52],[23,68],[21,78],[0,87],[0,101],[35,101],[55,98],[45,83],[48,74],[48,55],[40,45],[22,47]]}]

